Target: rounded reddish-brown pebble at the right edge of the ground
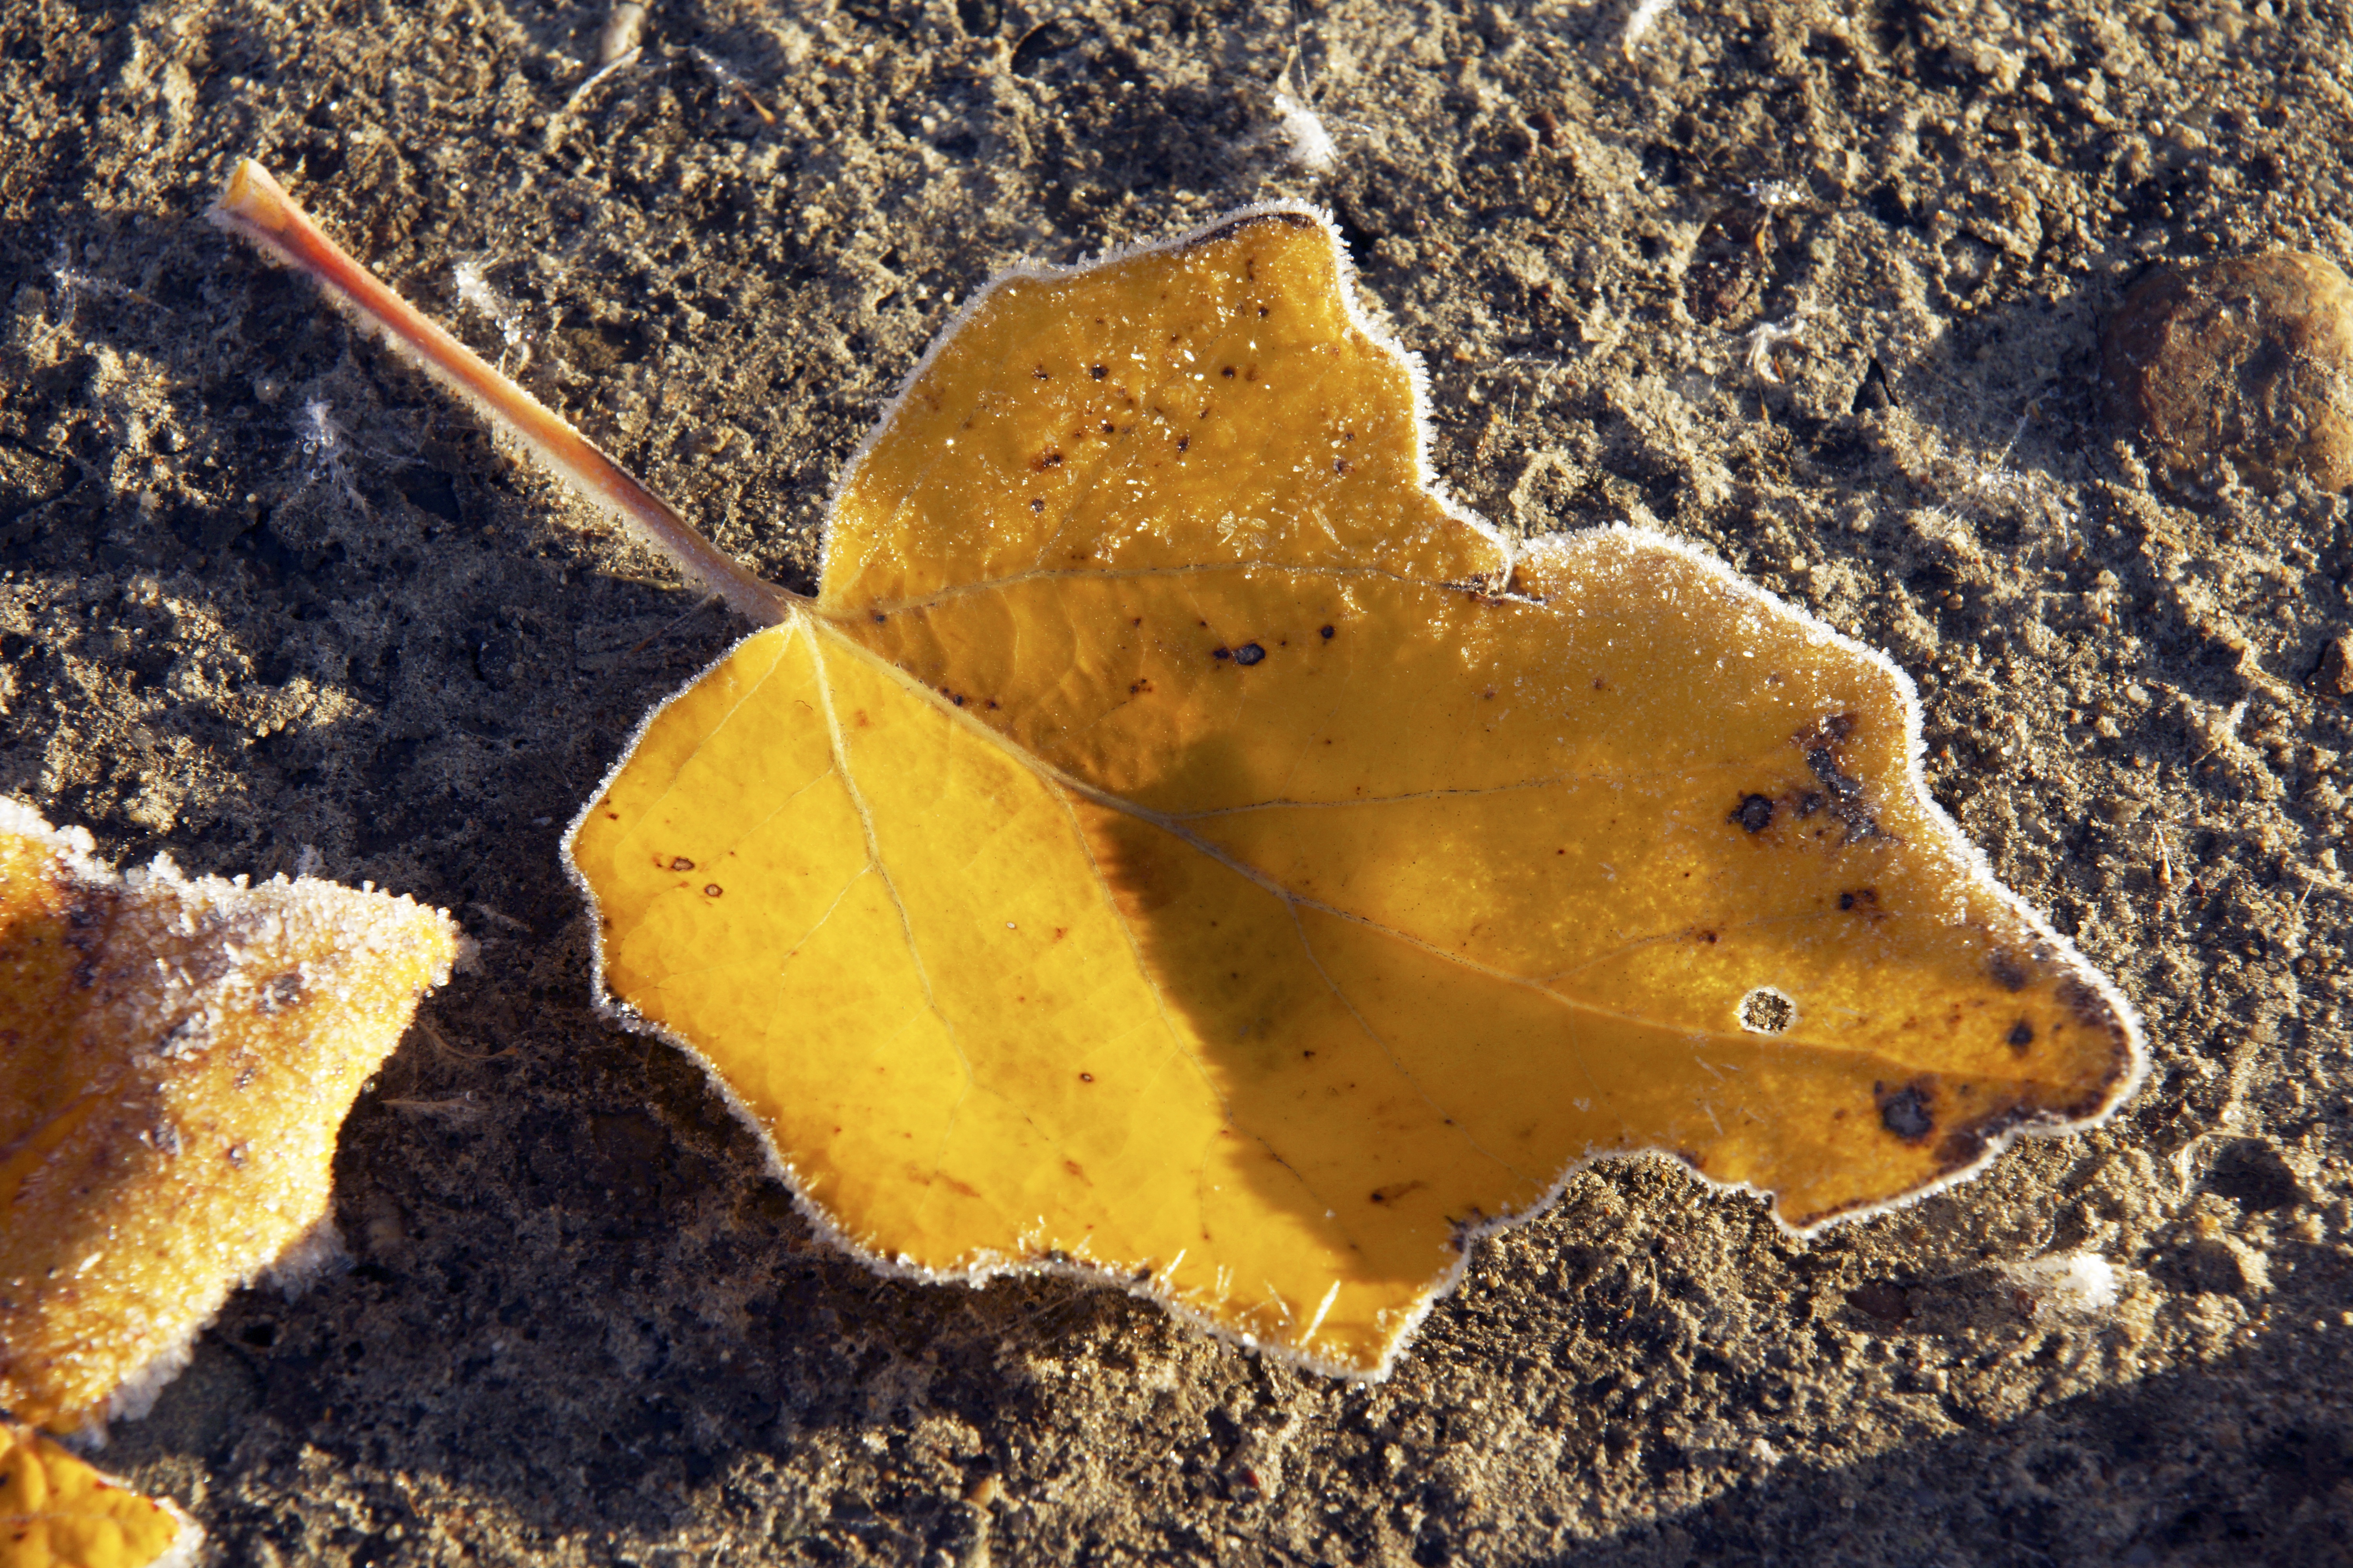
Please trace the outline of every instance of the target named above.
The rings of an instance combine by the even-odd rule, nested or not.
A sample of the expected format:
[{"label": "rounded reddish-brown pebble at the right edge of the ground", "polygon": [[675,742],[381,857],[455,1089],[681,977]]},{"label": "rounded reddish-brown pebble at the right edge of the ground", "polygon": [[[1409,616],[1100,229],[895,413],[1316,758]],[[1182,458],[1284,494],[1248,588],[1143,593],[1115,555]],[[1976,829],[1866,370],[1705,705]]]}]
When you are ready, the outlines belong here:
[{"label": "rounded reddish-brown pebble at the right edge of the ground", "polygon": [[2353,280],[2301,252],[2160,268],[2108,322],[2111,418],[2177,491],[2353,487]]}]

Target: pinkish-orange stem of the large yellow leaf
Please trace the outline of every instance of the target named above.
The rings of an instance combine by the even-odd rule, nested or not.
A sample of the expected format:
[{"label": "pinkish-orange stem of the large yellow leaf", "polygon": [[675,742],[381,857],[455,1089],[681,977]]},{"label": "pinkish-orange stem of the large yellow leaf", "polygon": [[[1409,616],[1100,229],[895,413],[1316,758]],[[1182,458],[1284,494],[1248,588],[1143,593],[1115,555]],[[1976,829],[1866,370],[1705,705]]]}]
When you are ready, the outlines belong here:
[{"label": "pinkish-orange stem of the large yellow leaf", "polygon": [[539,454],[539,461],[591,505],[612,512],[631,534],[666,555],[689,583],[720,595],[736,614],[762,625],[784,621],[788,607],[802,602],[791,588],[753,576],[680,517],[675,505],[598,451],[595,442],[574,430],[562,414],[393,294],[381,277],[322,235],[311,214],[296,207],[252,158],[238,160],[209,216],[289,268],[315,277],[329,301]]}]

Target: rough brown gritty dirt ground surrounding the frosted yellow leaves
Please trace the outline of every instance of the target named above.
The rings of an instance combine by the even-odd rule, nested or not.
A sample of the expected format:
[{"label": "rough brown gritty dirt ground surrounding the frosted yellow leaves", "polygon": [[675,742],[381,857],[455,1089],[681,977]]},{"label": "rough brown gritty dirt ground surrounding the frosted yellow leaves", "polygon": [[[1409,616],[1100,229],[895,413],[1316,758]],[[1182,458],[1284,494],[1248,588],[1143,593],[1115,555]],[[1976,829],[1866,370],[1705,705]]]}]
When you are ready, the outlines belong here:
[{"label": "rough brown gritty dirt ground surrounding the frosted yellow leaves", "polygon": [[[602,2],[0,7],[0,790],[482,950],[344,1131],[355,1267],[238,1295],[111,1462],[221,1563],[2353,1561],[2353,501],[2172,496],[2094,386],[2153,263],[2353,261],[2353,7],[1640,12],[673,0],[588,85]],[[1372,1387],[873,1279],[595,1018],[558,870],[739,628],[205,226],[247,153],[788,583],[998,266],[1322,202],[1464,498],[1920,679],[2151,1081],[1814,1244],[1581,1175]],[[2113,1302],[2024,1267],[2080,1255]]]}]

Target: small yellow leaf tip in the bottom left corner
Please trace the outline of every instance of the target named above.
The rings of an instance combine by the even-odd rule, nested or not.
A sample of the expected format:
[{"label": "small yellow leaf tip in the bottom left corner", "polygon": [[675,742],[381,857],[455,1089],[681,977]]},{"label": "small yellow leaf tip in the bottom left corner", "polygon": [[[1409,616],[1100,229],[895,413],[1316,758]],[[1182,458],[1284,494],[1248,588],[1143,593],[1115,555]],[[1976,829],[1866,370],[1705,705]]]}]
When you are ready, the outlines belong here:
[{"label": "small yellow leaf tip in the bottom left corner", "polygon": [[205,1533],[66,1448],[0,1422],[0,1568],[174,1568]]}]

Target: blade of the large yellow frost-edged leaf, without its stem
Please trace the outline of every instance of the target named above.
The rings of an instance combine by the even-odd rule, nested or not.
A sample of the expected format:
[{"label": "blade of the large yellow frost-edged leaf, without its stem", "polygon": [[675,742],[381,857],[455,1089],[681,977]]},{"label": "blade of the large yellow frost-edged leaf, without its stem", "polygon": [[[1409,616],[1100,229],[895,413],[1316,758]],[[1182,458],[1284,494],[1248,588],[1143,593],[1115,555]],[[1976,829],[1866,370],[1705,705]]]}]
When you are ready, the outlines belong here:
[{"label": "blade of the large yellow frost-edged leaf, without its stem", "polygon": [[1000,280],[584,809],[605,985],[861,1255],[1379,1373],[1586,1159],[1812,1227],[2129,1093],[1894,665],[1421,449],[1306,212]]}]

